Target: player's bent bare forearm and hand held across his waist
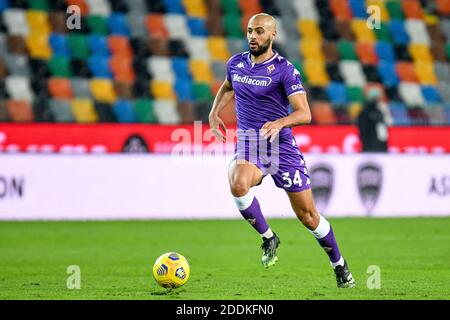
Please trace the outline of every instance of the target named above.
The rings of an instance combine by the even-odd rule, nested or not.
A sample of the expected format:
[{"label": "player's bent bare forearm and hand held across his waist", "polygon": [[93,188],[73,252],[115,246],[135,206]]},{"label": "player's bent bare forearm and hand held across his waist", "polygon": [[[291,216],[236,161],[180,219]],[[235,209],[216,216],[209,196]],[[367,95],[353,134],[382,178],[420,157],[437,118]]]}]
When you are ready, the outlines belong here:
[{"label": "player's bent bare forearm and hand held across his waist", "polygon": [[311,110],[306,94],[298,93],[290,96],[289,103],[294,110],[287,117],[276,121],[268,121],[261,128],[261,135],[272,142],[283,128],[290,128],[311,123]]}]

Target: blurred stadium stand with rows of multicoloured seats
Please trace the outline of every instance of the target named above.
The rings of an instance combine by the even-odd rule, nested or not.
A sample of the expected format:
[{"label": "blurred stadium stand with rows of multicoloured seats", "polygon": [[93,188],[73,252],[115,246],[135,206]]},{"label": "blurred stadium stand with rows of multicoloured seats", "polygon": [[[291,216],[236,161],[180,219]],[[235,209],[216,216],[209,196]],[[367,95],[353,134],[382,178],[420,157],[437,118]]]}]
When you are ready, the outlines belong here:
[{"label": "blurred stadium stand with rows of multicoloured seats", "polygon": [[449,0],[0,0],[0,121],[206,121],[258,12],[276,17],[315,123],[354,123],[377,86],[394,125],[450,124]]}]

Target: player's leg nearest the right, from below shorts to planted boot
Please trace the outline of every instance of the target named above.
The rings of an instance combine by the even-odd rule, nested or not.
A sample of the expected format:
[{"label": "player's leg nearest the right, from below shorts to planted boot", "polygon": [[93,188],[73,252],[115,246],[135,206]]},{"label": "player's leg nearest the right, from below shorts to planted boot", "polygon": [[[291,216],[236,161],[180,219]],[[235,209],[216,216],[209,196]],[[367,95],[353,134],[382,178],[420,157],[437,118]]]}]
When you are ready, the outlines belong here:
[{"label": "player's leg nearest the right, from below shorts to planted boot", "polygon": [[347,262],[341,256],[333,228],[327,219],[317,212],[311,189],[301,192],[287,192],[287,194],[298,219],[327,253],[336,274],[338,287],[354,287],[355,281],[348,270]]}]

